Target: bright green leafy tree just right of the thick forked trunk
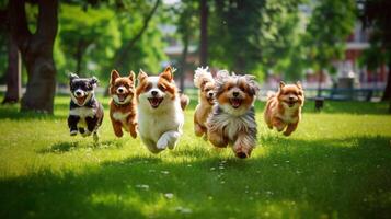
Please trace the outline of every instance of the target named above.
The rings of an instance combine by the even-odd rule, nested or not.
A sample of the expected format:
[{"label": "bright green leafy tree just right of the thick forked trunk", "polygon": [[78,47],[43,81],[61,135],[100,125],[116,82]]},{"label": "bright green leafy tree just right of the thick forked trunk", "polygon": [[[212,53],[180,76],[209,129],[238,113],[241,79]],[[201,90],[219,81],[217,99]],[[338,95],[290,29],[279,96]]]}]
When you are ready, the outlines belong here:
[{"label": "bright green leafy tree just right of the thick forked trunk", "polygon": [[[107,8],[82,10],[79,5],[61,4],[59,44],[67,55],[59,74],[77,71],[81,76],[102,76],[105,66],[120,46],[120,32],[115,12]],[[58,54],[56,54],[58,55]],[[62,77],[61,77],[62,78]]]}]

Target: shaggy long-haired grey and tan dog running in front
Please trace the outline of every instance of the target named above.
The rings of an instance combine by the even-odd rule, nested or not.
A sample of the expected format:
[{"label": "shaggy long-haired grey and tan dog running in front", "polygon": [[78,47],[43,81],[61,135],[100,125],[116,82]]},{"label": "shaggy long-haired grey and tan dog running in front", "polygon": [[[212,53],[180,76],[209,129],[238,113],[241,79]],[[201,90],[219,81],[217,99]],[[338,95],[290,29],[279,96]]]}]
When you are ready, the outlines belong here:
[{"label": "shaggy long-haired grey and tan dog running in front", "polygon": [[248,158],[256,146],[254,102],[260,91],[253,76],[216,77],[216,104],[207,119],[208,139],[218,148],[232,146],[238,158]]}]

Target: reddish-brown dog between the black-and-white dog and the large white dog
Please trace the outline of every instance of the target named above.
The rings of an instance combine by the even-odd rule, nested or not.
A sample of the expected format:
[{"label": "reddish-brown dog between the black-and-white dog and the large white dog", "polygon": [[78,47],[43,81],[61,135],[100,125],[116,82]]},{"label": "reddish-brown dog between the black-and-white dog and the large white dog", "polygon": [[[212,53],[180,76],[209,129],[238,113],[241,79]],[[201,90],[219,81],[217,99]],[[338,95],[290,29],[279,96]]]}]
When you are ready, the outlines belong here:
[{"label": "reddish-brown dog between the black-and-white dog and the large white dog", "polygon": [[136,90],[135,73],[130,71],[128,77],[120,77],[113,70],[110,80],[110,118],[112,119],[115,136],[123,137],[123,128],[137,137],[136,120]]}]

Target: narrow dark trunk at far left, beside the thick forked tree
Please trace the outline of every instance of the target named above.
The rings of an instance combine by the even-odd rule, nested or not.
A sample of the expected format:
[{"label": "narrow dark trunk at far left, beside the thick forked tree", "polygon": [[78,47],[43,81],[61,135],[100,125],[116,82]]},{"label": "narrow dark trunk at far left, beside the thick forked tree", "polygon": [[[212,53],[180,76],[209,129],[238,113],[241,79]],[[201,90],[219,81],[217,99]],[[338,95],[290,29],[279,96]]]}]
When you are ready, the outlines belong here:
[{"label": "narrow dark trunk at far left, beside the thick forked tree", "polygon": [[7,92],[2,104],[18,103],[21,97],[21,54],[11,35],[8,39]]}]

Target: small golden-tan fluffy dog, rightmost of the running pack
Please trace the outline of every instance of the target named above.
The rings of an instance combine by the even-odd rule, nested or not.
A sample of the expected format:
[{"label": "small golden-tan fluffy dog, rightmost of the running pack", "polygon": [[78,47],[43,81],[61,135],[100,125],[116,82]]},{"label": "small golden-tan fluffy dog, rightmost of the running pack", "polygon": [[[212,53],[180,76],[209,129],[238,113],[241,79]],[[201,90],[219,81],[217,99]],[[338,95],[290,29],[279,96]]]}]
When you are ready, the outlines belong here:
[{"label": "small golden-tan fluffy dog, rightmost of the running pack", "polygon": [[301,107],[304,104],[304,91],[300,82],[295,84],[279,83],[277,93],[269,93],[264,112],[267,127],[276,127],[278,131],[285,129],[284,135],[290,136],[301,119]]}]

